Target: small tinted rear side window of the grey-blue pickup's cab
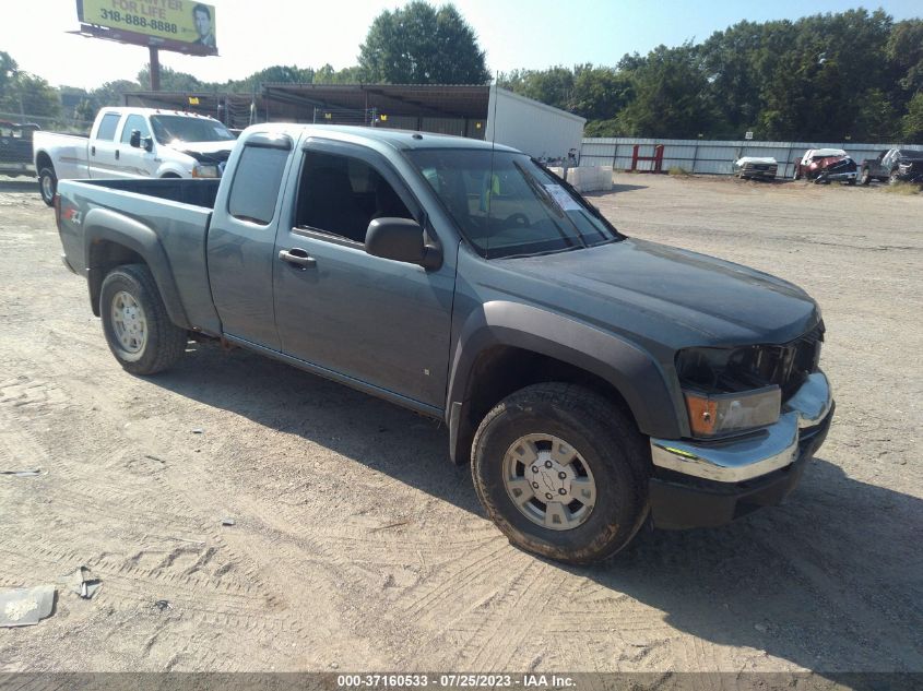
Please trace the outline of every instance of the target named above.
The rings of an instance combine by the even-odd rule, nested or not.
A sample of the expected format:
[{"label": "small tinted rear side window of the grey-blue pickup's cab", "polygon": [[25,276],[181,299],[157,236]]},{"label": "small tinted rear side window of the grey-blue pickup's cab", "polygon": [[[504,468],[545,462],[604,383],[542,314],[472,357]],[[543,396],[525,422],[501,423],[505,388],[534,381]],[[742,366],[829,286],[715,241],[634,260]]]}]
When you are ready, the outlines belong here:
[{"label": "small tinted rear side window of the grey-blue pickup's cab", "polygon": [[269,225],[282,183],[288,151],[246,146],[237,162],[227,211],[238,221]]}]

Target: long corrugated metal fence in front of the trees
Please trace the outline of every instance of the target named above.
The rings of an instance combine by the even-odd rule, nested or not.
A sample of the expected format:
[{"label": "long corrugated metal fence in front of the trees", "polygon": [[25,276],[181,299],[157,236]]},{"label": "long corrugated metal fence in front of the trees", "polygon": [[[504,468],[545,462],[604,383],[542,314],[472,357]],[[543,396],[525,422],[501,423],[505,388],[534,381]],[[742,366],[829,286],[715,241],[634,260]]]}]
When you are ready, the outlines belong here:
[{"label": "long corrugated metal fence in front of the trees", "polygon": [[[874,158],[879,152],[901,146],[923,151],[923,146],[901,144],[866,144],[857,142],[754,142],[705,141],[676,139],[638,139],[630,136],[584,139],[580,148],[580,165],[612,166],[615,170],[629,170],[635,145],[639,156],[653,156],[654,146],[663,145],[663,171],[683,168],[688,172],[732,175],[733,164],[742,156],[772,156],[779,162],[779,177],[792,177],[794,162],[808,148],[842,148],[856,163]],[[651,170],[653,163],[638,162],[638,170]]]}]

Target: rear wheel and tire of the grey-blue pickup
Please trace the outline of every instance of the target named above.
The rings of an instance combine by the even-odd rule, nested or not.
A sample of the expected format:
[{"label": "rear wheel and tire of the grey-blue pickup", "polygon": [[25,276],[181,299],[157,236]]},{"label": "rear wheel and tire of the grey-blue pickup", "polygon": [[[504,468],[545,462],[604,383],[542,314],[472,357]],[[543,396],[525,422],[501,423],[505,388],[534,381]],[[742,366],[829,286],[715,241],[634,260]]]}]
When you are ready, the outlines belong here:
[{"label": "rear wheel and tire of the grey-blue pickup", "polygon": [[186,350],[186,330],[174,324],[151,270],[144,264],[117,266],[99,295],[103,333],[119,365],[132,374],[169,369]]}]

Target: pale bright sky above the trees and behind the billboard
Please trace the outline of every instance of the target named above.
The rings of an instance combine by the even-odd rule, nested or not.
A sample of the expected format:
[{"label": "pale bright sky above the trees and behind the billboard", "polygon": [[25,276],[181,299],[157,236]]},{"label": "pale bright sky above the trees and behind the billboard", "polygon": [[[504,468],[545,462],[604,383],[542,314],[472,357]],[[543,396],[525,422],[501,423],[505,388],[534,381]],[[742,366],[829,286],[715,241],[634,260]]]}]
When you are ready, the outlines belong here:
[{"label": "pale bright sky above the trees and behind the billboard", "polygon": [[[114,0],[118,1],[118,0]],[[27,0],[7,8],[0,50],[52,85],[94,88],[134,80],[146,48],[68,34],[78,28],[75,0]],[[215,8],[218,57],[161,51],[161,64],[205,82],[242,79],[273,64],[342,69],[357,63],[371,21],[403,2],[367,0],[205,0]],[[431,4],[442,4],[436,1]],[[832,0],[454,0],[496,73],[592,62],[614,65],[626,52],[660,44],[699,43],[743,20],[795,20],[865,7],[895,20],[923,16],[921,0],[874,4]]]}]

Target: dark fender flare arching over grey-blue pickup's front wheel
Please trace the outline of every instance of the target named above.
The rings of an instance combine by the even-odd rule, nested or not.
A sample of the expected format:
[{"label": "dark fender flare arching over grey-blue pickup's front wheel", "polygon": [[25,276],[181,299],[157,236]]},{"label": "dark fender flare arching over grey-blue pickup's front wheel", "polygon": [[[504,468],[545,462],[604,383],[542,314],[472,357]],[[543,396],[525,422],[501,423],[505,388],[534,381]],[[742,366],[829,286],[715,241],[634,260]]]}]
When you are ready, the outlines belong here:
[{"label": "dark fender flare arching over grey-blue pickup's front wheel", "polygon": [[[511,346],[563,360],[618,391],[644,434],[677,439],[688,430],[677,397],[656,360],[637,345],[566,315],[518,302],[492,301],[472,312],[462,325],[450,365],[447,422],[450,453],[462,462],[472,369],[493,346]],[[472,432],[473,433],[473,432]]]}]

